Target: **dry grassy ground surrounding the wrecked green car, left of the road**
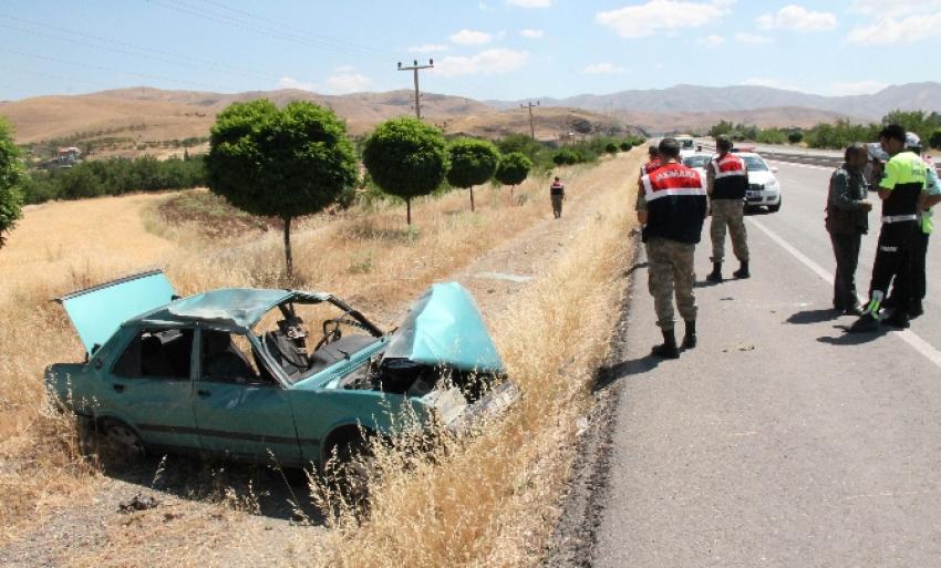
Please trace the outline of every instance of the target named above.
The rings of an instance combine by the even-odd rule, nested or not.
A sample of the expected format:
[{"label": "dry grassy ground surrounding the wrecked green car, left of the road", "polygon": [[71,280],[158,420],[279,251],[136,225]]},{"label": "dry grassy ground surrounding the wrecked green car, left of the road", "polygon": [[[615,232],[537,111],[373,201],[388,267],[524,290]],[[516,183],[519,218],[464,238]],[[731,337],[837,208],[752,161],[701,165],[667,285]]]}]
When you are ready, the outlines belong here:
[{"label": "dry grassy ground surrounding the wrecked green car, left of the road", "polygon": [[[536,565],[558,515],[577,419],[590,405],[589,384],[618,316],[640,158],[635,151],[597,166],[567,168],[565,225],[551,220],[546,178],[518,187],[513,205],[505,188],[478,188],[476,214],[469,213],[465,192],[423,200],[413,206],[412,230],[405,228],[403,207],[392,203],[299,224],[300,285],[335,292],[386,327],[434,281],[475,266],[499,266],[497,259],[514,251],[531,255],[527,266],[536,278],[527,285],[472,286],[478,297],[494,292],[482,298],[482,307],[524,391],[520,403],[494,427],[451,445],[434,461],[384,456],[385,475],[371,482],[375,498],[369,520],[341,515],[328,518],[327,528],[272,529],[252,505],[250,485],[247,493],[223,487],[226,498],[187,508],[185,515],[154,509],[85,519],[92,528],[84,530],[96,536],[56,534],[56,541],[75,544],[43,562]],[[149,266],[162,267],[184,295],[282,283],[278,231],[220,239],[194,227],[167,227],[155,215],[167,198],[128,196],[29,209],[0,251],[0,560],[10,547],[20,547],[30,559],[22,566],[40,564],[43,551],[30,548],[34,537],[56,519],[97,510],[95,504],[115,483],[81,457],[70,421],[45,406],[43,368],[81,358],[73,331],[50,298]],[[15,276],[8,280],[8,275]],[[402,467],[405,463],[409,467]]]}]

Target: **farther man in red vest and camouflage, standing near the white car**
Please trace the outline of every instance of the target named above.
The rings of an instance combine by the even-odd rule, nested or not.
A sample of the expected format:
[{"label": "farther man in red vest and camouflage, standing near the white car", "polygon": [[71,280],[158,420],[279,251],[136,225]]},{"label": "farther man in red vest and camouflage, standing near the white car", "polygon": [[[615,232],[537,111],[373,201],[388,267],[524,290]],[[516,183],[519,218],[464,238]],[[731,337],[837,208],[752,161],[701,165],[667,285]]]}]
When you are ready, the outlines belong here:
[{"label": "farther man in red vest and camouflage, standing near the white car", "polygon": [[732,154],[732,140],[728,136],[715,137],[718,155],[706,166],[710,209],[712,211],[712,272],[706,276],[710,282],[722,281],[722,261],[725,258],[725,227],[732,236],[732,251],[738,259],[735,278],[748,278],[748,239],[745,233],[745,192],[748,189],[748,171],[745,161]]}]

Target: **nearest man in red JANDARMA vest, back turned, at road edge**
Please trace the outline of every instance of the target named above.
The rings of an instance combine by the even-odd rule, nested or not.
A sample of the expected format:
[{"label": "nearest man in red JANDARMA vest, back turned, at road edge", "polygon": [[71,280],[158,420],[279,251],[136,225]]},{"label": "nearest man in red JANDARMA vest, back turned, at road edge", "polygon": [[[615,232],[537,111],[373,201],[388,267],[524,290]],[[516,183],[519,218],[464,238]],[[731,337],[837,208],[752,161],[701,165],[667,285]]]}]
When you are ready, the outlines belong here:
[{"label": "nearest man in red JANDARMA vest, back turned, at road edge", "polygon": [[696,297],[693,293],[693,252],[702,236],[707,211],[706,184],[699,172],[680,163],[680,143],[663,138],[658,147],[661,166],[641,176],[638,188],[638,221],[649,264],[650,293],[663,344],[652,354],[680,357],[673,331],[673,296],[685,321],[683,349],[696,347]]}]

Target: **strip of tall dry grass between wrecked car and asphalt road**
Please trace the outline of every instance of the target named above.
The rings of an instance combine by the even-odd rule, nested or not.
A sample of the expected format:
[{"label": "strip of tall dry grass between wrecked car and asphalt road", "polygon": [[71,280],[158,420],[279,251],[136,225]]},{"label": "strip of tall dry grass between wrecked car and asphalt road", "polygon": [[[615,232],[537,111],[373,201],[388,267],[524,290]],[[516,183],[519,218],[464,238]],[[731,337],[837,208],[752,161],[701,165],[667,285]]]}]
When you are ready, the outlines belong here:
[{"label": "strip of tall dry grass between wrecked car and asphalt road", "polygon": [[538,565],[573,458],[576,423],[591,403],[593,373],[619,317],[632,254],[632,185],[625,175],[606,188],[577,244],[493,329],[524,391],[514,412],[432,461],[401,456],[407,467],[383,467],[370,490],[369,520],[341,519],[311,566]]}]

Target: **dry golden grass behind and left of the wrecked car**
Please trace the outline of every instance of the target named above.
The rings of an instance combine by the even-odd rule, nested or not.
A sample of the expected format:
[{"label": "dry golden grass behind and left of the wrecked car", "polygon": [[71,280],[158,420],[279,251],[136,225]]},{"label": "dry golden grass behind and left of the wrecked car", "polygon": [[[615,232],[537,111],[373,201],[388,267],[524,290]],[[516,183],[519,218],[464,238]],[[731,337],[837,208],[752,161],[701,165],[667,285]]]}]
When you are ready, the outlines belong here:
[{"label": "dry golden grass behind and left of the wrecked car", "polygon": [[[567,168],[569,209],[597,199],[579,195],[580,183],[587,184],[592,172],[588,166]],[[404,303],[428,283],[547,218],[545,186],[546,179],[534,178],[518,187],[521,205],[508,204],[505,189],[485,189],[477,214],[467,210],[464,192],[427,199],[413,206],[416,224],[411,230],[404,226],[403,208],[391,203],[339,217],[314,216],[294,233],[294,283],[335,292],[391,326]],[[184,295],[225,286],[285,285],[276,231],[224,242],[196,230],[154,235],[141,218],[153,205],[147,197],[83,202],[77,209],[72,204],[46,205],[42,216],[28,213],[17,240],[0,251],[0,541],[89,492],[97,478],[96,471],[76,457],[72,425],[45,405],[45,365],[82,358],[74,332],[50,298],[155,265]],[[128,207],[135,199],[136,207]],[[68,227],[66,234],[59,227]],[[86,240],[95,246],[83,247]],[[41,258],[29,261],[24,248]],[[511,343],[504,342],[509,351]]]}]

